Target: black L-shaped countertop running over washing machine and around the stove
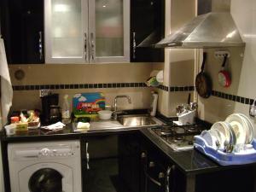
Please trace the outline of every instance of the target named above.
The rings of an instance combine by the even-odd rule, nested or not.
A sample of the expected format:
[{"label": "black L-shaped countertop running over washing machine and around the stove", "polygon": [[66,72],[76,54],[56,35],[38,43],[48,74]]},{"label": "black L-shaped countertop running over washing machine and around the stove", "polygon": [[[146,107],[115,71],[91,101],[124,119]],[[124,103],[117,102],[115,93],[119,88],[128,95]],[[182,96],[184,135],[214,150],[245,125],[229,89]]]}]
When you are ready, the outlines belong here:
[{"label": "black L-shaped countertop running over washing machine and around the stove", "polygon": [[73,125],[67,125],[61,131],[43,131],[41,129],[17,133],[6,136],[4,129],[1,131],[1,140],[4,143],[38,142],[47,140],[80,139],[81,137],[101,136],[111,134],[125,134],[132,131],[140,131],[144,137],[153,143],[160,151],[175,163],[185,174],[198,174],[204,172],[215,172],[233,166],[219,166],[195,149],[186,151],[174,151],[166,143],[155,137],[147,127],[124,127],[119,129],[90,129],[86,132],[73,131]]}]

